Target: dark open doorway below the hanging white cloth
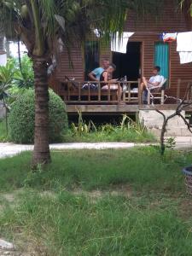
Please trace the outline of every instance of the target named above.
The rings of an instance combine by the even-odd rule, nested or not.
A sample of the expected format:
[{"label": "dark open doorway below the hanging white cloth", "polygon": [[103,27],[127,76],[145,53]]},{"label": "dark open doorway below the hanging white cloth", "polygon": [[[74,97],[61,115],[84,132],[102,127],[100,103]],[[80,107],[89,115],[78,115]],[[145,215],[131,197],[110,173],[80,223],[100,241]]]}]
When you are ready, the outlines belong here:
[{"label": "dark open doorway below the hanging white cloth", "polygon": [[141,78],[141,42],[129,42],[126,54],[113,53],[113,63],[117,66],[113,78],[128,80]]}]

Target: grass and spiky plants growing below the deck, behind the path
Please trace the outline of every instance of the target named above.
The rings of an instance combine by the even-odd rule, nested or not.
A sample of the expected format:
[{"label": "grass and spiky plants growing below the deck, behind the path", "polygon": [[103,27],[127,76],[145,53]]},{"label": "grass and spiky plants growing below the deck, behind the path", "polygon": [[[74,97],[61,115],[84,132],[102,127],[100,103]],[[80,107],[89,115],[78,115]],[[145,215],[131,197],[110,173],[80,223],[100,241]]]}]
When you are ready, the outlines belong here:
[{"label": "grass and spiky plants growing below the deck, behind the path", "polygon": [[119,125],[99,125],[96,126],[91,120],[86,123],[79,112],[79,121],[75,125],[72,123],[67,136],[67,142],[135,142],[148,143],[156,142],[153,134],[136,117],[136,121],[124,114]]}]

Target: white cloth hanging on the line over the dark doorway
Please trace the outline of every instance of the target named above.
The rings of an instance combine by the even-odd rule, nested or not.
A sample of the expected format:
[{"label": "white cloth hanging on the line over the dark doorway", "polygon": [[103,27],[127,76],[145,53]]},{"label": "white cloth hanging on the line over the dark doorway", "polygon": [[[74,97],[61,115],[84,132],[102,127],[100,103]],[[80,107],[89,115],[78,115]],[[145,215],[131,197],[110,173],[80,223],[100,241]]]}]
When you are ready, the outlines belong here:
[{"label": "white cloth hanging on the line over the dark doorway", "polygon": [[116,36],[112,38],[111,41],[111,50],[126,54],[129,38],[131,38],[133,34],[134,32],[123,32],[121,38],[119,38],[119,32],[116,32]]}]

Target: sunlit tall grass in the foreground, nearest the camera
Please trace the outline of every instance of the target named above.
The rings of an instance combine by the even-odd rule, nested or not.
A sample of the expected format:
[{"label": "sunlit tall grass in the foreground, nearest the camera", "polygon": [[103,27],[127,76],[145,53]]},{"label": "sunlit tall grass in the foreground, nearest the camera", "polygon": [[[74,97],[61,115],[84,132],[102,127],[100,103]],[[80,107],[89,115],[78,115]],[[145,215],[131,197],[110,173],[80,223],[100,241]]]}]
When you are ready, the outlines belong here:
[{"label": "sunlit tall grass in the foreground, nearest the camera", "polygon": [[[67,192],[54,196],[27,191],[15,208],[0,214],[0,232],[15,241],[39,243],[46,255],[190,255],[191,220],[172,201],[148,207],[108,195],[95,202]],[[41,254],[43,255],[43,254]]]}]

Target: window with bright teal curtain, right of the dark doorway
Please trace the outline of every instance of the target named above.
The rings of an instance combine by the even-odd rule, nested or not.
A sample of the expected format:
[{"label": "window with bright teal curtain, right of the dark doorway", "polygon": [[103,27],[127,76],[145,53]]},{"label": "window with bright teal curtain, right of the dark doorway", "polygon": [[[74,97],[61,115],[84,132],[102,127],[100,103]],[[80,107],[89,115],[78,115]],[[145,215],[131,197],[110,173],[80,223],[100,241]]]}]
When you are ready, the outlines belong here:
[{"label": "window with bright teal curtain, right of the dark doorway", "polygon": [[154,44],[154,65],[160,66],[160,75],[169,79],[169,44],[155,43]]}]

